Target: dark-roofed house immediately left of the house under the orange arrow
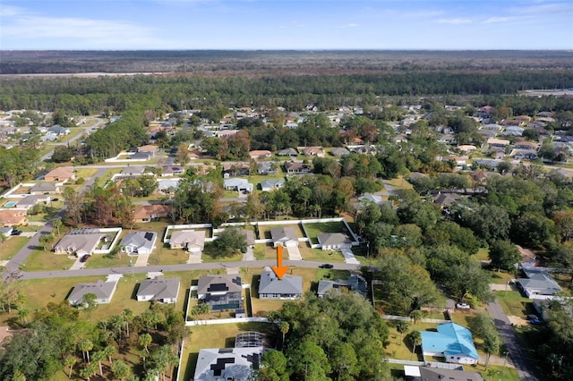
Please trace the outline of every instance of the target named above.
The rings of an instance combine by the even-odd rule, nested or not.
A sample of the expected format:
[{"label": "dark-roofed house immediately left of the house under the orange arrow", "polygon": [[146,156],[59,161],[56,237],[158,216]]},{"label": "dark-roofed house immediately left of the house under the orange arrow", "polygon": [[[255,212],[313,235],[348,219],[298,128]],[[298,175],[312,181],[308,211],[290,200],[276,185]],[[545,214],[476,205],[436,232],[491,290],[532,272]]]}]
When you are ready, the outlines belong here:
[{"label": "dark-roofed house immediately left of the house under the orange arrow", "polygon": [[243,282],[239,275],[206,275],[199,278],[197,298],[211,310],[243,307]]}]

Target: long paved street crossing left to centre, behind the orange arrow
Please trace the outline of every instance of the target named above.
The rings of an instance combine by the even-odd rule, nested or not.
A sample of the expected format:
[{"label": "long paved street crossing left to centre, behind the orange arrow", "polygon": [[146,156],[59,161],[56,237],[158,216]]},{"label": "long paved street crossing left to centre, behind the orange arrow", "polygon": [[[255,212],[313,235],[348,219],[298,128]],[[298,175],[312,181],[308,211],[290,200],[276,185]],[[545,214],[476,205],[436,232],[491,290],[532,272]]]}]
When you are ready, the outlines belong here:
[{"label": "long paved street crossing left to centre, behind the orange arrow", "polygon": [[[312,261],[293,261],[286,260],[284,264],[290,267],[307,267],[318,268],[322,262]],[[216,268],[228,267],[254,267],[262,268],[265,266],[277,265],[276,260],[243,260],[238,262],[211,262],[197,263],[186,265],[163,265],[147,267],[111,267],[111,268],[85,268],[83,270],[56,270],[56,271],[35,271],[22,272],[20,279],[44,279],[44,278],[67,278],[70,276],[87,276],[87,275],[111,275],[111,274],[131,274],[149,273],[149,272],[169,272],[169,271],[190,271],[190,270],[210,270]],[[334,265],[338,270],[358,270],[360,266],[348,265],[346,263],[337,263]]]}]

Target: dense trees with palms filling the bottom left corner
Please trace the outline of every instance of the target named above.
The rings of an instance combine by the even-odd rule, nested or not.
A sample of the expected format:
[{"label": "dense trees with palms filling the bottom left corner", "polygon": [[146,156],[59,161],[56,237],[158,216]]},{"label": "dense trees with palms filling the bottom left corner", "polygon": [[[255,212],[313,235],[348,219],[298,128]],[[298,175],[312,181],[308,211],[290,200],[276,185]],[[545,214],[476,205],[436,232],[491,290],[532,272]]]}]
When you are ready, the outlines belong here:
[{"label": "dense trees with palms filling the bottom left corner", "polygon": [[[173,306],[152,304],[139,316],[124,309],[120,315],[92,323],[87,316],[96,308],[89,303],[81,312],[67,301],[49,302],[33,313],[30,323],[21,320],[26,329],[0,347],[0,377],[52,379],[63,370],[74,378],[99,375],[148,380],[173,373],[178,364],[177,347],[189,336],[181,312]],[[128,364],[133,360],[122,360],[128,352],[144,366],[132,367]]]}]

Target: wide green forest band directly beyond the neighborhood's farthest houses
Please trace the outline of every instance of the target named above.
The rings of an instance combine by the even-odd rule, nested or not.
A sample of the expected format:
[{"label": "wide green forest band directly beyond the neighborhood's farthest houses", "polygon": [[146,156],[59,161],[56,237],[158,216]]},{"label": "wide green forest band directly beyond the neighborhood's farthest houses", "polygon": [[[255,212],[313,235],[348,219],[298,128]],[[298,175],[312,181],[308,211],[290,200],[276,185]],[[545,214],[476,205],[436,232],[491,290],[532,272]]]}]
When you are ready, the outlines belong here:
[{"label": "wide green forest band directly beyond the neighborhood's farthest houses", "polygon": [[[487,94],[483,99],[489,102],[485,103],[492,103],[492,106],[504,103],[511,106],[515,103],[519,111],[541,108],[552,111],[561,104],[564,107],[561,109],[571,111],[570,102],[568,106],[556,97],[547,97],[551,100],[523,97],[512,100],[509,105],[505,97],[495,98],[493,95],[516,94],[521,89],[553,89],[572,85],[573,72],[570,71],[400,72],[266,78],[129,76],[14,79],[4,81],[0,89],[0,109],[53,111],[59,108],[69,114],[83,115],[123,113],[139,102],[141,94],[145,94],[146,97],[154,97],[166,111],[252,105],[269,108],[284,106],[288,111],[303,111],[308,104],[316,105],[321,110],[331,110],[340,105],[384,106],[388,104],[387,97],[397,97],[394,103],[399,104],[400,98],[413,97],[414,100],[419,96],[463,93],[473,94],[478,99],[482,99],[481,94]],[[517,102],[523,106],[517,106]]]}]

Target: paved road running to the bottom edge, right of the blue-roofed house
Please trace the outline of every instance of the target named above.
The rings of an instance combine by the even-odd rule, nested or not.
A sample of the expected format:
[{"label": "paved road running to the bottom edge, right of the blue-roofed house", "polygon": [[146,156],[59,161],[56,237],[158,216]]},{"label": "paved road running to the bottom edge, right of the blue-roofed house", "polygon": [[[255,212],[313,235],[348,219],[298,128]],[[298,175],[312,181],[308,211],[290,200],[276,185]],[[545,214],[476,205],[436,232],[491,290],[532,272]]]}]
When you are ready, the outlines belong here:
[{"label": "paved road running to the bottom edge, right of the blue-roofed house", "polygon": [[519,378],[523,381],[537,381],[537,377],[534,376],[534,372],[530,366],[530,360],[527,360],[526,352],[523,350],[516,330],[511,326],[509,318],[505,312],[503,312],[503,309],[501,309],[500,303],[498,301],[492,301],[488,304],[487,309],[490,315],[492,315],[493,323],[509,351],[508,361],[516,368]]}]

